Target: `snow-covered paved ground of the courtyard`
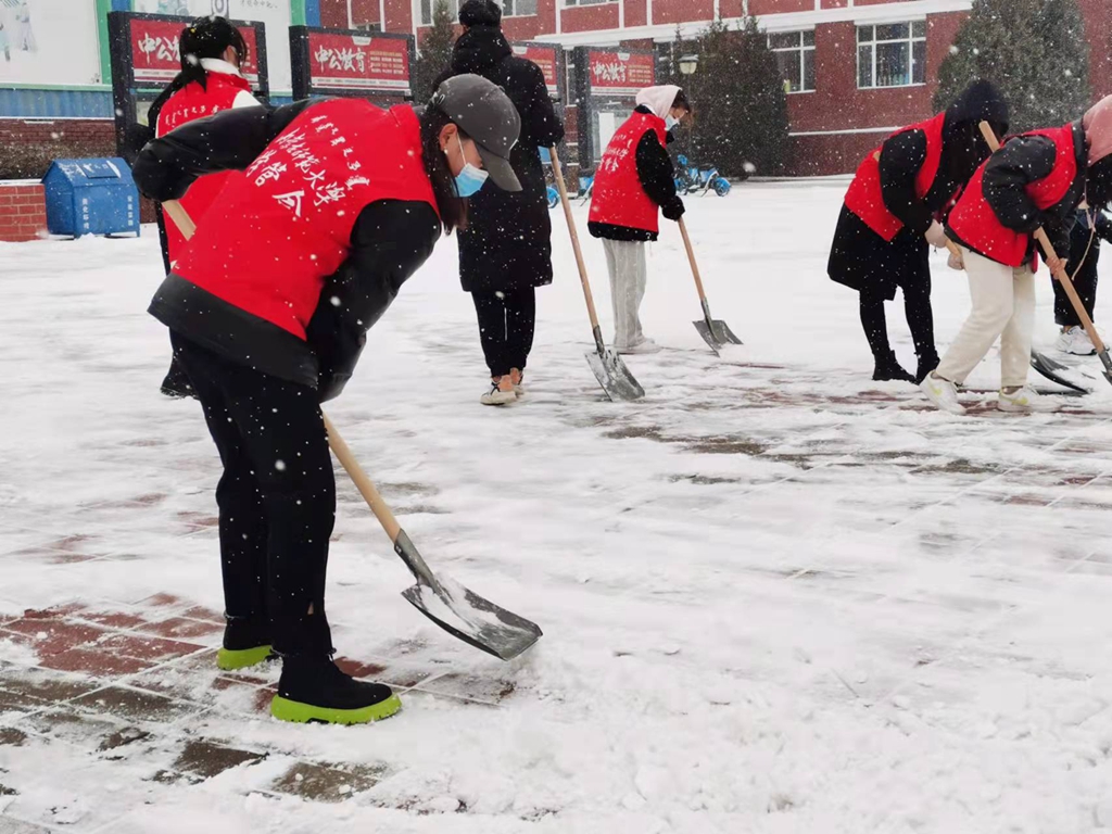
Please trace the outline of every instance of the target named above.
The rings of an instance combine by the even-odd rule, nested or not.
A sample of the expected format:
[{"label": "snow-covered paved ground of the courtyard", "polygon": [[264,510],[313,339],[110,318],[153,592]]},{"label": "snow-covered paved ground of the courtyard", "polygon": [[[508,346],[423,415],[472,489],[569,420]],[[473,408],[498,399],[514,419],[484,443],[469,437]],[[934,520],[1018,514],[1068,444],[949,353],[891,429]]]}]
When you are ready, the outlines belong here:
[{"label": "snow-covered paved ground of the courtyard", "polygon": [[[149,735],[113,753],[0,698],[0,832],[1112,827],[1112,388],[1032,417],[983,395],[956,418],[871,383],[856,297],[825,277],[843,189],[688,202],[712,309],[746,345],[705,348],[669,227],[644,321],[671,349],[628,359],[635,404],[605,400],[584,360],[554,214],[529,396],[479,406],[474,308],[441,244],[328,410],[429,562],[535,619],[540,643],[503,664],[409,607],[339,471],[335,641],[417,684],[406,709],[336,728],[272,722],[235,689],[192,708],[215,671],[187,657],[122,678],[182,711],[130,715]],[[608,331],[602,248],[576,214]],[[197,405],[158,394],[169,347],[145,314],[160,269],[145,232],[0,245],[0,619],[73,600],[141,612],[158,594],[221,607],[219,464]],[[933,265],[944,348],[967,290]],[[1049,341],[1045,272],[1039,291]],[[38,662],[16,636],[0,631],[0,695]],[[103,704],[95,691],[72,711]],[[255,758],[159,777],[198,739]],[[275,787],[295,762],[363,778],[307,801]]]}]

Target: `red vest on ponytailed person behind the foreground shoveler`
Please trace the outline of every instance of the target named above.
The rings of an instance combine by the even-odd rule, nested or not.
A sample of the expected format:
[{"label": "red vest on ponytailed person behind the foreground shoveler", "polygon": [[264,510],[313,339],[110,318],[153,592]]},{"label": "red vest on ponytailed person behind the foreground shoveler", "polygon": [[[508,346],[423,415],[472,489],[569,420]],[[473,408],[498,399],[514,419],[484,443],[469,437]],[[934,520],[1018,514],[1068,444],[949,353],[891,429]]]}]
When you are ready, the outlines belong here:
[{"label": "red vest on ponytailed person behind the foreground shoveler", "polygon": [[[230,109],[236,97],[245,90],[251,91],[247,79],[227,72],[209,72],[205,79],[205,87],[193,81],[167,99],[162,111],[158,115],[157,136],[166,136],[193,119],[203,119],[206,116]],[[189,187],[189,192],[181,198],[181,205],[193,222],[200,222],[205,217],[227,180],[227,173],[210,173]],[[166,241],[172,265],[181,257],[186,239],[170,218],[166,218]]]}]

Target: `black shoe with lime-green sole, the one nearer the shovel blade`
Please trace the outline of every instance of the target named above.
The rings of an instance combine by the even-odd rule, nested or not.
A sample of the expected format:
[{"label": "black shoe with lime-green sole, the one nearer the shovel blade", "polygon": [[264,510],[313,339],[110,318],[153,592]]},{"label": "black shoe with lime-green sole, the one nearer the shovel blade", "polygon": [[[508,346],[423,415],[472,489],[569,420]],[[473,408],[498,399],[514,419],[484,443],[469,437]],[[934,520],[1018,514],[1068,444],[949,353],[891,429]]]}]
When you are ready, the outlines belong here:
[{"label": "black shoe with lime-green sole, the one nearer the shovel blade", "polygon": [[284,658],[278,694],[270,702],[274,717],[298,724],[367,724],[400,708],[389,686],[356,681],[327,655]]}]

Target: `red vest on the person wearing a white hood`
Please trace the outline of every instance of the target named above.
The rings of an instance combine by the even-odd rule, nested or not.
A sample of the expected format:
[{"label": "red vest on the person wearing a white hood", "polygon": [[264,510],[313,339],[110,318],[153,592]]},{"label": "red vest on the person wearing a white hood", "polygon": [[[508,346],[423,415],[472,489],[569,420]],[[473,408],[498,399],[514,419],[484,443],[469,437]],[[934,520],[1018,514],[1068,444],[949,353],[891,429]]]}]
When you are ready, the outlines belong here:
[{"label": "red vest on the person wearing a white hood", "polygon": [[637,145],[648,131],[656,133],[662,147],[667,147],[664,119],[638,112],[626,119],[606,146],[595,172],[590,222],[659,232],[659,207],[645,193],[637,176]]}]

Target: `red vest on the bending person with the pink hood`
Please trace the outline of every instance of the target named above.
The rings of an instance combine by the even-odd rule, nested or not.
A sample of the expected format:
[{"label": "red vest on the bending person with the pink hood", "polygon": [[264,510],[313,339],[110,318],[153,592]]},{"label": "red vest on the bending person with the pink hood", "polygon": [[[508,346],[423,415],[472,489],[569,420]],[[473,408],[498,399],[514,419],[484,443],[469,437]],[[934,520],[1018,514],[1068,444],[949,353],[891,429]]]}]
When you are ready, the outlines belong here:
[{"label": "red vest on the bending person with the pink hood", "polygon": [[[1049,175],[1024,186],[1024,190],[1040,210],[1062,201],[1078,176],[1076,148],[1073,125],[1045,130],[1032,130],[1023,136],[1044,136],[1054,142],[1054,168]],[[1031,236],[1009,229],[996,217],[984,198],[984,170],[992,157],[982,163],[954,210],[950,212],[950,228],[963,242],[997,264],[1023,266],[1031,246]]]}]

